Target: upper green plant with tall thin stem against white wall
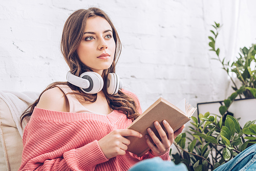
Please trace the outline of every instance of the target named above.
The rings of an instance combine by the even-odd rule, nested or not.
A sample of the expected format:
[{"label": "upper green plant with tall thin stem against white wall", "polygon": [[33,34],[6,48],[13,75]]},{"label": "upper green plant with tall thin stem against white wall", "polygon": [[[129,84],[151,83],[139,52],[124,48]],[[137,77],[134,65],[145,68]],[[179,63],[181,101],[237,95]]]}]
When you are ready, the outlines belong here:
[{"label": "upper green plant with tall thin stem against white wall", "polygon": [[[252,44],[252,46],[247,49],[246,47],[240,48],[241,53],[239,53],[239,57],[237,60],[232,62],[230,65],[230,61],[226,62],[225,57],[221,59],[220,57],[220,49],[216,48],[216,39],[219,35],[219,30],[221,25],[215,22],[215,25],[212,25],[214,30],[210,30],[213,36],[209,36],[210,39],[209,47],[211,48],[210,51],[214,51],[217,55],[216,58],[222,64],[222,69],[226,71],[228,76],[230,77],[233,83],[233,90],[235,91],[231,96],[229,96],[226,100],[224,100],[224,105],[220,108],[221,115],[228,113],[228,108],[230,104],[233,102],[237,96],[240,98],[256,98],[256,44]],[[240,80],[241,87],[238,88],[237,84],[233,80],[231,76],[234,73],[237,78]]]}]

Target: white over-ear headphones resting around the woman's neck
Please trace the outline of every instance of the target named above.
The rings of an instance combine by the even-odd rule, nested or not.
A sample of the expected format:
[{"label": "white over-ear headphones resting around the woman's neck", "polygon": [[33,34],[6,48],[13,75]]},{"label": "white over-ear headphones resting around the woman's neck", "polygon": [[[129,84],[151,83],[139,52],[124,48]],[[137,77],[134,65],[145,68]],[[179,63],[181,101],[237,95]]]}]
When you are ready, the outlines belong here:
[{"label": "white over-ear headphones resting around the woman's neck", "polygon": [[[96,72],[84,72],[79,77],[68,72],[67,81],[88,94],[100,92],[104,84],[102,77]],[[119,76],[115,73],[109,73],[106,88],[110,95],[114,95],[118,92],[118,89],[122,89]]]}]

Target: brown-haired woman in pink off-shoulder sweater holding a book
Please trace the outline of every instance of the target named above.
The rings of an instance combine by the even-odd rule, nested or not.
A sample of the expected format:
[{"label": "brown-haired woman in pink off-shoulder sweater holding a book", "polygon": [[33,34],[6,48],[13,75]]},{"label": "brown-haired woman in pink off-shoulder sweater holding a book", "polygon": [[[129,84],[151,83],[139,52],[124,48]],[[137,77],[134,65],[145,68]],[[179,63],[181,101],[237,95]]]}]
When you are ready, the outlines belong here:
[{"label": "brown-haired woman in pink off-shoulder sweater holding a book", "polygon": [[[148,135],[156,146],[147,136],[126,129],[141,109],[136,95],[118,90],[118,81],[117,89],[109,90],[109,76],[115,77],[120,51],[116,29],[102,10],[81,9],[69,16],[61,39],[61,52],[70,67],[69,82],[52,83],[23,114],[21,122],[27,117],[30,121],[24,130],[20,170],[127,170],[155,156],[170,160],[169,147],[184,126],[174,133],[163,121],[166,134],[155,122],[161,141],[150,129]],[[102,77],[103,89],[101,85],[98,91],[92,90],[98,83],[90,90],[75,86],[83,86],[78,76],[84,73]],[[86,83],[92,86],[91,81]],[[127,152],[130,141],[125,136],[146,138],[151,151],[142,157]]]}]

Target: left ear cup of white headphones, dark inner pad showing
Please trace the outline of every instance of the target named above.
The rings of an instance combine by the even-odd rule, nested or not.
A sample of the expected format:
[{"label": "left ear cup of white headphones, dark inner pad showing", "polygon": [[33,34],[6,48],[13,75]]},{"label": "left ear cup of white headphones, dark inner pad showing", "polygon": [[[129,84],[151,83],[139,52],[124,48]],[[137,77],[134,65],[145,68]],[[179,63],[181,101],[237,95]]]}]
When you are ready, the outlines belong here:
[{"label": "left ear cup of white headphones, dark inner pad showing", "polygon": [[103,88],[103,79],[96,72],[84,72],[80,75],[81,78],[87,79],[90,82],[90,86],[87,89],[80,88],[84,93],[96,94]]}]

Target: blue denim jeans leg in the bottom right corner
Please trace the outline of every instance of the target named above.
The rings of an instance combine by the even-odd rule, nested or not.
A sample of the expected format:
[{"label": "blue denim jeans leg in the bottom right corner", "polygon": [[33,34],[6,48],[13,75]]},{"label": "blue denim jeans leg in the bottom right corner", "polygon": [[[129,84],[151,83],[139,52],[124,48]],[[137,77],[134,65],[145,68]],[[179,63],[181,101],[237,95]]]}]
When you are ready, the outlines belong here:
[{"label": "blue denim jeans leg in the bottom right corner", "polygon": [[242,153],[225,164],[217,167],[214,171],[255,171],[256,170],[256,144],[246,148]]}]

